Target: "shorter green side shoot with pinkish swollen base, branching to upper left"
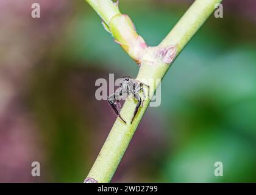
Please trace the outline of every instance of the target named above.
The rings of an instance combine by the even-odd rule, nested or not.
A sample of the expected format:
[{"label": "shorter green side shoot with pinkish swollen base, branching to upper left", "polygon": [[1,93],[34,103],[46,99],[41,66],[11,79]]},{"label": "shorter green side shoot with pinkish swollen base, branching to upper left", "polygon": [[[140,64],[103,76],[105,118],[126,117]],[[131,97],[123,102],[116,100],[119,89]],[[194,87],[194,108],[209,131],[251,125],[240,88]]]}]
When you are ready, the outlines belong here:
[{"label": "shorter green side shoot with pinkish swollen base, branching to upper left", "polygon": [[115,38],[116,43],[130,55],[137,63],[141,63],[141,57],[147,49],[147,44],[137,34],[134,24],[129,16],[121,14],[118,2],[111,0],[86,0],[104,21],[102,24]]}]

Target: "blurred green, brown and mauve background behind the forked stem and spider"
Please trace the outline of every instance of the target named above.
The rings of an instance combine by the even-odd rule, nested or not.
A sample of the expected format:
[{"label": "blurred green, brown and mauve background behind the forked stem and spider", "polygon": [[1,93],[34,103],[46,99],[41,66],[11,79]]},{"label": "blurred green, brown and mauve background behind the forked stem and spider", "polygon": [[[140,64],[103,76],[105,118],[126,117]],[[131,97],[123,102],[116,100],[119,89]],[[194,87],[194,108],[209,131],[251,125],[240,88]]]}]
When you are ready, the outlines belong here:
[{"label": "blurred green, brown and mauve background behind the forked stem and spider", "polygon": [[[85,1],[37,1],[40,19],[33,2],[0,3],[0,182],[83,182],[116,118],[94,83],[138,66]],[[119,6],[155,46],[192,2]],[[256,182],[256,2],[223,5],[169,69],[112,182]]]}]

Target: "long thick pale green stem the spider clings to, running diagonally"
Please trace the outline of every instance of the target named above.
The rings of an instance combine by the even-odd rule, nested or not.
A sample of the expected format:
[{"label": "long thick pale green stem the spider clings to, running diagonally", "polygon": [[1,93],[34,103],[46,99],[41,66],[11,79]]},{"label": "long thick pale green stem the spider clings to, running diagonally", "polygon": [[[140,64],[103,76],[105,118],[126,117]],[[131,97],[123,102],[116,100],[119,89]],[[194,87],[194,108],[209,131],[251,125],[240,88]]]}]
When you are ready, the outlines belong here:
[{"label": "long thick pale green stem the spider clings to, running diagonally", "polygon": [[[107,14],[101,13],[102,10],[100,10],[96,4],[93,4],[93,2],[98,2],[99,5],[99,2],[103,1],[105,4],[113,4],[113,2],[108,0],[87,0],[87,2],[93,5],[93,8],[96,9],[100,16]],[[171,45],[176,46],[177,57],[180,51],[182,51],[188,41],[190,41],[193,35],[197,32],[199,27],[204,24],[208,16],[215,10],[215,4],[219,2],[221,2],[221,0],[196,0],[162,43],[155,48],[148,48],[146,54],[144,54],[141,59],[141,66],[137,79],[162,79],[170,65],[157,59],[157,57],[155,57],[155,51],[159,48],[166,48]],[[108,10],[105,9],[104,12],[108,12]],[[109,19],[109,17],[107,18]],[[148,83],[151,89],[151,96],[154,94],[159,83],[160,80],[157,80],[154,84]],[[144,107],[140,108],[134,121],[130,124],[136,107],[136,102],[132,99],[126,100],[121,109],[121,116],[123,116],[127,124],[124,124],[119,118],[116,119],[87,178],[93,178],[98,182],[110,182],[141,118],[148,108],[149,102],[149,99],[144,101]]]}]

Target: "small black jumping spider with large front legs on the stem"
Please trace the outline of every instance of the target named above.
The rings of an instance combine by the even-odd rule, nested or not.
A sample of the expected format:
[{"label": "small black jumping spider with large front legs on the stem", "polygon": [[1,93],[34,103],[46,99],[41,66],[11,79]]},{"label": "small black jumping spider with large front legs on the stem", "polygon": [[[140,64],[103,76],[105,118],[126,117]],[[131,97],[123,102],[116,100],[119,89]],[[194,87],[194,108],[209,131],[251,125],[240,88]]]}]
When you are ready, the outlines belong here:
[{"label": "small black jumping spider with large front legs on the stem", "polygon": [[[119,88],[115,91],[115,93],[110,94],[110,96],[108,96],[108,98],[107,98],[108,103],[112,106],[116,115],[118,115],[119,118],[124,123],[126,123],[126,121],[124,121],[124,119],[122,118],[122,116],[120,115],[120,112],[119,112],[119,109],[121,108],[121,104],[119,101],[121,100],[121,98],[123,97],[124,94],[126,94],[127,97],[129,96],[129,94],[132,94],[133,98],[135,98],[138,101],[138,104],[133,113],[133,118],[132,118],[132,121],[133,121],[133,119],[135,118],[135,116],[138,112],[138,108],[140,107],[140,105],[143,107],[143,101],[146,98],[144,89],[143,89],[143,85],[148,87],[148,92],[149,92],[149,85],[146,85],[136,79],[132,79],[131,77],[123,77],[122,82],[119,85]],[[140,97],[140,92],[142,92],[142,94],[143,94],[142,101],[141,101],[141,97]],[[132,124],[132,121],[130,122],[130,124]]]}]

